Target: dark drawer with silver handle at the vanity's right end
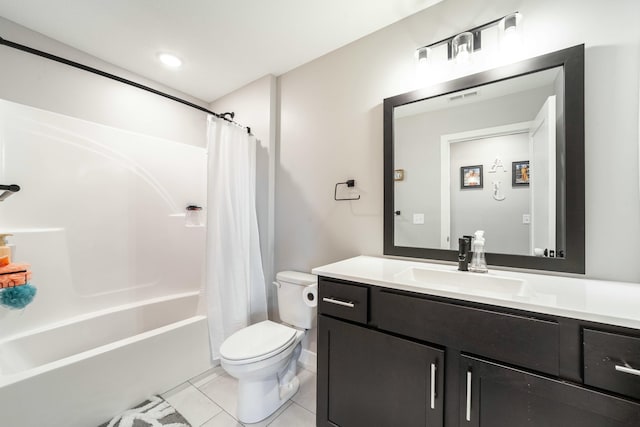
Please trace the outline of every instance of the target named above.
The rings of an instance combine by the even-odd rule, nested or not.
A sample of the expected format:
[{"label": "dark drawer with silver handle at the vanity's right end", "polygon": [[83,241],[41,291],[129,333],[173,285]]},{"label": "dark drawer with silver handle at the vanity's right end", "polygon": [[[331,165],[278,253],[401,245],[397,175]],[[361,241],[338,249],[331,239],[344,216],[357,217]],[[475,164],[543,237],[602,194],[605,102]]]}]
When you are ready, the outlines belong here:
[{"label": "dark drawer with silver handle at the vanity's right end", "polygon": [[640,399],[640,338],[585,329],[584,383]]}]

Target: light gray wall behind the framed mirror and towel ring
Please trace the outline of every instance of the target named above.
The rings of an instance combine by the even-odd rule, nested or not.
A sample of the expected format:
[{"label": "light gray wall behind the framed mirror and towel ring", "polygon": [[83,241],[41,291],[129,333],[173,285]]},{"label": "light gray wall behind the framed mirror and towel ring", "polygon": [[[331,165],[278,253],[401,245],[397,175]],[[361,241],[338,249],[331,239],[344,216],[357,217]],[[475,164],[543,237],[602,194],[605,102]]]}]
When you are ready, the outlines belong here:
[{"label": "light gray wall behind the framed mirror and towel ring", "polygon": [[[586,45],[586,275],[640,280],[637,0],[447,0],[280,76],[276,269],[382,254],[382,100],[417,87],[418,46],[515,10],[530,56]],[[333,201],[347,178],[361,200]]]}]

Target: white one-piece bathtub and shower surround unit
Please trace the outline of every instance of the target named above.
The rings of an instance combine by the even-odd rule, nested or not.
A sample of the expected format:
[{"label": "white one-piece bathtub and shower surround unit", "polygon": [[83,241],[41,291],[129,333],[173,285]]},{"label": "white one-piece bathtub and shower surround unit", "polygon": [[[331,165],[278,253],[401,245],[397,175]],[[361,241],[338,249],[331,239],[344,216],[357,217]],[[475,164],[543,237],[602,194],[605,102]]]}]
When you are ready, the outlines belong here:
[{"label": "white one-piece bathtub and shower surround unit", "polygon": [[97,426],[211,367],[205,228],[185,221],[204,148],[0,100],[0,182],[38,289],[0,308],[0,425]]}]

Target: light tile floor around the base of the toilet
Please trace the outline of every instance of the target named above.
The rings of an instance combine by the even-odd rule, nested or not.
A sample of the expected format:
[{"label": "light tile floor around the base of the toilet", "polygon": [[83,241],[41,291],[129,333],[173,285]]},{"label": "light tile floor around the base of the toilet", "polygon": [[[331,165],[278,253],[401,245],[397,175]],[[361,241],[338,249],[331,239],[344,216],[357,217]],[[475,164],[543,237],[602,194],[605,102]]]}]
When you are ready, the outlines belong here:
[{"label": "light tile floor around the base of the toilet", "polygon": [[266,420],[242,424],[235,419],[238,381],[220,366],[164,393],[193,427],[315,427],[316,375],[298,368],[300,389]]}]

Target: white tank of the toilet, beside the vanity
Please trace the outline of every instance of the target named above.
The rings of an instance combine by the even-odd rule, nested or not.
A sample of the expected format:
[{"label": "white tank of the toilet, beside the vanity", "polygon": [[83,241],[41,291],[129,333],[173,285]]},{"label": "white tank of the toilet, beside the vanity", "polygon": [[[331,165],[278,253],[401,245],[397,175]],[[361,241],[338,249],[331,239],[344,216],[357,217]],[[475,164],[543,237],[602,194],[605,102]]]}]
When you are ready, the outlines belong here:
[{"label": "white tank of the toilet, beside the vanity", "polygon": [[298,271],[281,271],[276,275],[280,320],[291,326],[311,329],[315,308],[304,303],[303,292],[317,281],[313,274]]}]

